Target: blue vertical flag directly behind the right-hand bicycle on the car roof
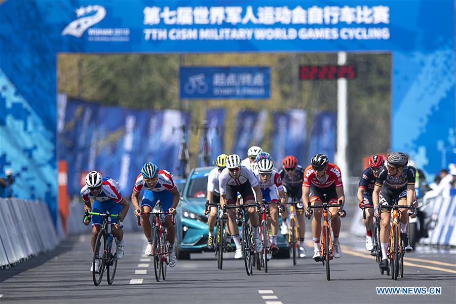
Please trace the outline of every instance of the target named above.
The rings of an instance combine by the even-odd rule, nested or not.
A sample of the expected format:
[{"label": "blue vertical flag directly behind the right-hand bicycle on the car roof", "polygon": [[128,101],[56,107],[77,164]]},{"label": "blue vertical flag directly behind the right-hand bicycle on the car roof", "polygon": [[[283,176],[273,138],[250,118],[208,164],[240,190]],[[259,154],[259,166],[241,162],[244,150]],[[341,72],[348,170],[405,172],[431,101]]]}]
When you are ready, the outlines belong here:
[{"label": "blue vertical flag directly behind the right-hand bicycle on the car roof", "polygon": [[[223,135],[225,134],[225,114],[226,109],[224,108],[212,108],[207,109],[206,111],[206,121],[207,121],[207,142],[209,146],[210,161],[209,165],[212,166],[215,164],[215,159],[220,154],[224,153],[223,151]],[[203,162],[203,149],[204,148],[204,138],[203,134],[201,135],[200,140],[200,154],[198,157],[198,167],[205,166]]]}]

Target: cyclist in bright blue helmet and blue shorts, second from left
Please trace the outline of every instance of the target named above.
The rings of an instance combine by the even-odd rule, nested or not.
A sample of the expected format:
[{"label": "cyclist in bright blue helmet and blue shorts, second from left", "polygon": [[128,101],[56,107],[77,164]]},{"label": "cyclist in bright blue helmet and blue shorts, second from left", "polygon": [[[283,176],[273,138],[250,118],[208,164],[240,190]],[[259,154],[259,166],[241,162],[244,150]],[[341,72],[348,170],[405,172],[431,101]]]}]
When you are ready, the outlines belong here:
[{"label": "cyclist in bright blue helmet and blue shorts, second from left", "polygon": [[[141,207],[139,207],[138,196],[144,187]],[[151,212],[157,201],[160,200],[162,210],[169,211],[165,215],[165,225],[169,242],[169,266],[174,267],[177,263],[176,254],[174,253],[174,237],[176,230],[172,215],[176,215],[176,207],[179,203],[180,195],[177,187],[174,185],[171,173],[166,170],[158,169],[154,163],[145,163],[142,166],[141,174],[136,177],[135,185],[131,194],[131,202],[135,207],[135,215],[141,216],[141,225],[144,235],[147,239],[147,246],[144,254],[147,256],[154,255],[152,248],[152,236],[149,215],[140,214],[141,212]]]}]

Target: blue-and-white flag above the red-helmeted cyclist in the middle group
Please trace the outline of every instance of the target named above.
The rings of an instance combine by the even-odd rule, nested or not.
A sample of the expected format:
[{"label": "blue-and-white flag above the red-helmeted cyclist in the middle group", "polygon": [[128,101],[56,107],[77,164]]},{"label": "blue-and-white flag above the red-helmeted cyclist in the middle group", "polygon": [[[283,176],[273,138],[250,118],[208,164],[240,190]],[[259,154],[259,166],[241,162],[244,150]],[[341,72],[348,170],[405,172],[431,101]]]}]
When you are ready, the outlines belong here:
[{"label": "blue-and-white flag above the red-helmeted cyclist in the middle group", "polygon": [[293,155],[298,163],[306,163],[306,129],[307,114],[305,110],[290,109],[273,113],[273,133],[271,155],[277,168],[287,155]]}]

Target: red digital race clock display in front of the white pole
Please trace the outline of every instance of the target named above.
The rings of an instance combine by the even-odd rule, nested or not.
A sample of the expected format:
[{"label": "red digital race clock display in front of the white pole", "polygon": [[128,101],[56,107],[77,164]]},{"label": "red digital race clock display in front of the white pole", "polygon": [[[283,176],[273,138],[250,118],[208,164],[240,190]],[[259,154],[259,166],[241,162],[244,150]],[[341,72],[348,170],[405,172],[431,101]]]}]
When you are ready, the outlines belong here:
[{"label": "red digital race clock display in front of the white pole", "polygon": [[349,65],[301,65],[299,66],[300,80],[315,80],[315,79],[354,79],[355,66]]}]

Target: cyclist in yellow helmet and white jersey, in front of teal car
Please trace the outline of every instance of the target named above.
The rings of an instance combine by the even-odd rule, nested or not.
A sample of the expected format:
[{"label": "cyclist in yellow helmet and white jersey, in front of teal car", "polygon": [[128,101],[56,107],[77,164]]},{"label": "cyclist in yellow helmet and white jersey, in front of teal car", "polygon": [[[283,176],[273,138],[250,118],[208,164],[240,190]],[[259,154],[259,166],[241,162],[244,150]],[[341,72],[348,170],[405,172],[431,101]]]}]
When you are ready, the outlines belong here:
[{"label": "cyclist in yellow helmet and white jersey, in front of teal car", "polygon": [[[226,154],[220,154],[215,159],[216,168],[212,169],[209,172],[209,176],[207,179],[207,203],[208,204],[220,204],[220,193],[219,193],[219,183],[218,177],[220,172],[226,167]],[[210,212],[210,213],[209,213]],[[215,220],[217,218],[217,207],[211,206],[210,211],[205,210],[204,214],[206,215],[209,213],[209,217],[207,219],[207,225],[209,227],[209,237],[207,239],[207,248],[212,249],[214,248],[213,243],[213,233],[214,233],[214,225]]]}]

